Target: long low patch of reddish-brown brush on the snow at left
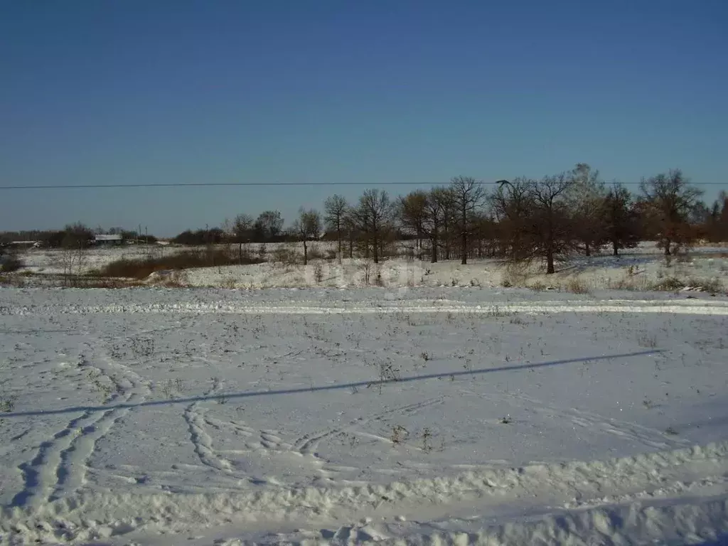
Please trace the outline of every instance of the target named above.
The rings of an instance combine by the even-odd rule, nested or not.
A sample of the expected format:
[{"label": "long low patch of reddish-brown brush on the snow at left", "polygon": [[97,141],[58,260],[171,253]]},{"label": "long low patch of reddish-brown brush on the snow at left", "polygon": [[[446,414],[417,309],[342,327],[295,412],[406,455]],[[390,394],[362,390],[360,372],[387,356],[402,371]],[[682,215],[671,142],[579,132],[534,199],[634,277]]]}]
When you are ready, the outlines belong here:
[{"label": "long low patch of reddish-brown brush on the snow at left", "polygon": [[[243,255],[243,264],[261,264],[264,260]],[[121,259],[112,261],[99,272],[103,277],[125,277],[130,279],[146,279],[154,272],[165,269],[191,269],[194,267],[218,267],[240,264],[240,256],[229,252],[226,248],[213,248],[202,252],[187,250],[185,252],[146,258],[143,260]]]}]

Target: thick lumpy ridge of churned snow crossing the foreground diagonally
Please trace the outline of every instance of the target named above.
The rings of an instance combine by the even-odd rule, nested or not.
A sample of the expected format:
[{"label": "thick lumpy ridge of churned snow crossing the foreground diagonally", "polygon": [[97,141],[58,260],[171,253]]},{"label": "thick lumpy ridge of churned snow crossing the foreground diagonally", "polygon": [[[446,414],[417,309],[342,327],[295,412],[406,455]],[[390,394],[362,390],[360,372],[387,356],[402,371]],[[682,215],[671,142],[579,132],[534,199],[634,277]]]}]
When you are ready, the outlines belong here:
[{"label": "thick lumpy ridge of churned snow crossing the foreground diagonally", "polygon": [[[269,529],[274,530],[280,523],[292,519],[357,521],[376,513],[392,515],[394,510],[416,517],[419,514],[428,520],[434,520],[438,515],[441,518],[457,506],[487,514],[488,510],[509,502],[518,509],[526,499],[530,499],[528,506],[540,507],[545,513],[555,512],[549,517],[559,520],[555,523],[560,526],[555,529],[563,531],[559,505],[565,507],[580,499],[679,493],[691,487],[691,483],[720,486],[721,476],[727,472],[728,442],[722,442],[621,459],[529,464],[386,485],[186,495],[98,491],[60,499],[38,510],[2,509],[0,531],[13,543],[36,539],[42,542],[52,537],[53,529],[62,526],[68,533],[68,541],[79,542],[98,538],[100,529],[108,529],[106,536],[115,534],[114,526],[119,521],[123,521],[124,526],[116,534],[139,532],[148,526],[155,532],[188,533],[204,526],[236,522],[266,522]],[[538,498],[534,496],[536,494]],[[544,503],[542,498],[557,499],[558,503]],[[721,499],[721,506],[720,515],[725,525],[728,498]],[[703,522],[703,529],[709,528],[708,523]],[[578,533],[579,529],[593,529],[593,526],[576,526],[571,530]]]}]

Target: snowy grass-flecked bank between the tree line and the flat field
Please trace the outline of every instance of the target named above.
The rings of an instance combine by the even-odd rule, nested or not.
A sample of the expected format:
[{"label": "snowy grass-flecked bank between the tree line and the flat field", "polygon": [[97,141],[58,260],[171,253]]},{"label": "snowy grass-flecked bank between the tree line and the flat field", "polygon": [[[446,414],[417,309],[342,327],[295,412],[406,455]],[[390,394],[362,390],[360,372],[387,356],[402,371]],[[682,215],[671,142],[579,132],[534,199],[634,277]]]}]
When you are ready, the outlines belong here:
[{"label": "snowy grass-flecked bank between the tree line and the flat field", "polygon": [[[400,246],[405,242],[400,242]],[[333,250],[334,243],[312,244],[320,252]],[[295,243],[266,245],[266,257],[274,259],[277,248],[286,248],[302,254],[301,245]],[[250,245],[256,253],[258,245]],[[98,270],[120,258],[143,259],[159,257],[189,250],[186,247],[139,246],[99,248],[90,250],[85,258],[83,272]],[[401,249],[403,250],[403,249]],[[30,250],[23,255],[25,271],[39,274],[60,274],[61,253],[58,250]],[[368,277],[368,281],[367,281]],[[164,283],[165,274],[153,274],[149,284]],[[540,264],[514,271],[495,259],[470,260],[467,266],[459,261],[427,261],[390,258],[379,266],[362,259],[317,259],[304,267],[300,264],[283,264],[268,261],[246,266],[205,267],[186,269],[181,285],[207,288],[357,288],[382,285],[388,288],[402,287],[467,287],[497,288],[503,285],[531,287],[539,290],[555,288],[566,291],[600,290],[617,288],[649,290],[659,283],[677,280],[690,288],[720,288],[728,291],[728,248],[724,246],[699,246],[689,254],[666,262],[654,242],[645,242],[638,248],[626,250],[623,256],[614,258],[603,254],[590,258],[577,257],[561,264],[554,275],[542,272]],[[31,279],[25,278],[26,282]]]}]

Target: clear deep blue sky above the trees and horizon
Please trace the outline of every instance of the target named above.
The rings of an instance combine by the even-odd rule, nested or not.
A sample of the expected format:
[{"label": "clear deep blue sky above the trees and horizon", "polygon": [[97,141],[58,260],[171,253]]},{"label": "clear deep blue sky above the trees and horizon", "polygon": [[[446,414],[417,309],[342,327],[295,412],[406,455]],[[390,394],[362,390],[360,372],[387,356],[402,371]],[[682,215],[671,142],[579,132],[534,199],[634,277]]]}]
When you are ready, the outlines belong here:
[{"label": "clear deep blue sky above the trees and horizon", "polygon": [[[725,0],[15,0],[0,46],[0,186],[727,181]],[[4,190],[0,230],[288,223],[364,187]]]}]

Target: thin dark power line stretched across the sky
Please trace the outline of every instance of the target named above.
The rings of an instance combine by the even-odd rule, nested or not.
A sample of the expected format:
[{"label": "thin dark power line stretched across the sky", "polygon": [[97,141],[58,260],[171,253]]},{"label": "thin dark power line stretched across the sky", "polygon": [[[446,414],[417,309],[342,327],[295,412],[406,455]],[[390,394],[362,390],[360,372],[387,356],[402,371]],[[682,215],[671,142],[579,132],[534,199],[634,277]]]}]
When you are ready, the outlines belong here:
[{"label": "thin dark power line stretched across the sky", "polygon": [[[476,181],[486,186],[496,186],[500,181]],[[637,186],[639,182],[622,182],[623,186]],[[214,186],[427,186],[422,182],[153,182],[132,184],[43,184],[39,186],[0,186],[3,189],[107,189],[107,188],[192,188]],[[432,183],[435,185],[435,183]],[[728,186],[722,182],[703,182],[698,186]]]}]

